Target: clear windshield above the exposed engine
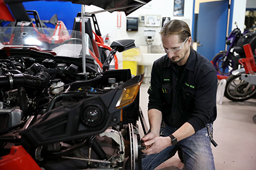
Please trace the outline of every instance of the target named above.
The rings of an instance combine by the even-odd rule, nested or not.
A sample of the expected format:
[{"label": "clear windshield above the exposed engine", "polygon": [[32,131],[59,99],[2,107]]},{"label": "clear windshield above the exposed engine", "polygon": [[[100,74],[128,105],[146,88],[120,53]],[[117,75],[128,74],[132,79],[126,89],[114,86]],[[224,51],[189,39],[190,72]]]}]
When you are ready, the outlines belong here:
[{"label": "clear windshield above the exposed engine", "polygon": [[[88,34],[85,33],[86,55],[93,55]],[[0,27],[0,49],[29,47],[54,56],[82,57],[82,32],[40,27]]]}]

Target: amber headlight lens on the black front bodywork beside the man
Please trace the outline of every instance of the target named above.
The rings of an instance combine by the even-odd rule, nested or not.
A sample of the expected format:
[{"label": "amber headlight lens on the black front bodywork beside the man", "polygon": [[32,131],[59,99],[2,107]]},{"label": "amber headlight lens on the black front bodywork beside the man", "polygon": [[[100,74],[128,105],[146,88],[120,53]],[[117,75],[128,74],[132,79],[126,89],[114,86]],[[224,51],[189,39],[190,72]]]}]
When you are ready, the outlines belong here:
[{"label": "amber headlight lens on the black front bodywork beside the man", "polygon": [[132,103],[135,100],[136,95],[138,94],[141,83],[142,81],[139,82],[138,84],[124,88],[115,107],[120,108],[120,107],[124,107],[127,104]]}]

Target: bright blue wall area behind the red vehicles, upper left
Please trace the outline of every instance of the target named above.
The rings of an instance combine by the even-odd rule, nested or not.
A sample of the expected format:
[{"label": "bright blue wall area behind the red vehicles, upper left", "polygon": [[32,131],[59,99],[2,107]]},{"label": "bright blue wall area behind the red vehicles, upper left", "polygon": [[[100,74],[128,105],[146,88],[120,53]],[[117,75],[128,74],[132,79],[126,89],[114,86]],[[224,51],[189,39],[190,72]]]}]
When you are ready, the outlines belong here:
[{"label": "bright blue wall area behind the red vehicles, upper left", "polygon": [[[50,20],[57,14],[58,20],[63,21],[68,30],[73,29],[74,17],[77,12],[81,11],[80,4],[72,4],[71,2],[47,2],[47,1],[31,1],[23,2],[24,8],[27,10],[38,11],[40,20]],[[47,25],[48,27],[54,27]]]}]

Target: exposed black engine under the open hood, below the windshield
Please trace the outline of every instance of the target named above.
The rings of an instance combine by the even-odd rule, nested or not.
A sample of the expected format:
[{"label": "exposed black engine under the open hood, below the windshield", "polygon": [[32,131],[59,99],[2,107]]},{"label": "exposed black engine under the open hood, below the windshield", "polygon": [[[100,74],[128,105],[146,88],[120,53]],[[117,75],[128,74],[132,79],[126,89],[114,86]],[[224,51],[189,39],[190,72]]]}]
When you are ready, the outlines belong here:
[{"label": "exposed black engine under the open hood, below the windshield", "polygon": [[[0,60],[0,65],[0,116],[5,118],[1,129],[41,113],[55,95],[67,90],[68,84],[85,79],[79,66],[52,59],[39,62],[31,57],[12,57]],[[92,74],[88,78],[97,75]]]}]

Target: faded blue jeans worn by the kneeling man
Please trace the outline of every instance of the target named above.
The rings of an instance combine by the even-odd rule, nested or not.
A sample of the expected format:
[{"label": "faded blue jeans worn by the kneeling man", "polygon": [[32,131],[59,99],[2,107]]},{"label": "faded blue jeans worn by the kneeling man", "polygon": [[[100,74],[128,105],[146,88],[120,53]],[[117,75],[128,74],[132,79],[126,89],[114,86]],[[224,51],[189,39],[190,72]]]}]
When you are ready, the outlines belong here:
[{"label": "faded blue jeans worn by the kneeling man", "polygon": [[[169,136],[177,128],[163,123],[160,136]],[[180,140],[176,145],[169,146],[160,153],[146,155],[142,159],[142,169],[155,169],[158,165],[171,158],[177,152],[178,147],[182,150],[184,164],[187,170],[211,170],[215,169],[213,153],[211,152],[211,141],[207,128],[197,131],[190,137]]]}]

